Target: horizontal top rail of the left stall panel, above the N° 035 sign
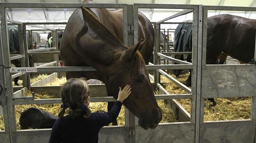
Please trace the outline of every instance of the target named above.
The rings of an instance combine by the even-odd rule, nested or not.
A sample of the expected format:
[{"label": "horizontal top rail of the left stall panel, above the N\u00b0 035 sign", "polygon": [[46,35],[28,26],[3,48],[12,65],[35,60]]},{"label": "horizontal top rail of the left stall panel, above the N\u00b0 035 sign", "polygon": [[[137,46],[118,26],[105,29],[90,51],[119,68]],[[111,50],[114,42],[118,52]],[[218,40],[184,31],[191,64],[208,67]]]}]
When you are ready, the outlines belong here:
[{"label": "horizontal top rail of the left stall panel, above the N\u00b0 035 sign", "polygon": [[1,3],[4,8],[124,8],[126,4],[89,3]]}]

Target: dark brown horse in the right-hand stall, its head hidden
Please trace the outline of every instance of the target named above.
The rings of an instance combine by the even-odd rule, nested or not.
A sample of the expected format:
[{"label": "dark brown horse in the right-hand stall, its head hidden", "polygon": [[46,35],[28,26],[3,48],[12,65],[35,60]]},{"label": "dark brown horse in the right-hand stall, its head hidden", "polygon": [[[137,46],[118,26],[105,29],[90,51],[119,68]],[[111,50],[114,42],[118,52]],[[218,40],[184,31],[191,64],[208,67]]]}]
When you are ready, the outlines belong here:
[{"label": "dark brown horse in the right-hand stall, its head hidden", "polygon": [[[223,64],[227,55],[240,63],[255,64],[255,30],[255,19],[229,14],[208,17],[206,64]],[[192,47],[189,49],[192,51]],[[185,85],[191,86],[191,74]],[[213,98],[209,100],[216,105]]]}]

